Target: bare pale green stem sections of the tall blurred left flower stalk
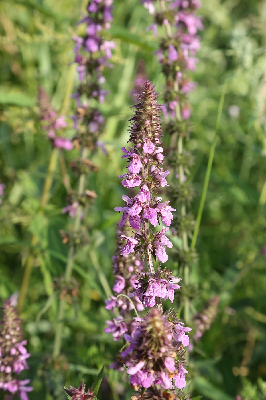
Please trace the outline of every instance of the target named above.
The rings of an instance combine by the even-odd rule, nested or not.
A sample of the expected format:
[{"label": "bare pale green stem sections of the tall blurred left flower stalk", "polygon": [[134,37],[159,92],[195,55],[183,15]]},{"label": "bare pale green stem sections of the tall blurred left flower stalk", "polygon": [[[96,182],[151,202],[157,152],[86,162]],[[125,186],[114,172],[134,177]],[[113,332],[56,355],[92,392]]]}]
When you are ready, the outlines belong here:
[{"label": "bare pale green stem sections of the tall blurred left flower stalk", "polygon": [[[85,158],[87,157],[87,148],[83,148],[81,152],[81,161],[84,161]],[[85,188],[85,174],[81,174],[79,177],[79,184],[78,184],[78,196],[81,196],[84,192]],[[82,213],[83,207],[79,204],[77,214],[75,215],[75,220],[74,220],[74,228],[73,228],[73,233],[79,232],[80,228],[80,217]],[[72,271],[73,271],[73,266],[74,266],[74,260],[75,260],[75,248],[76,245],[75,243],[71,243],[69,245],[69,250],[67,254],[67,265],[66,265],[66,270],[65,270],[65,280],[66,282],[69,282],[72,276]],[[66,300],[63,297],[60,299],[59,303],[59,308],[58,308],[58,318],[57,318],[57,323],[56,323],[56,334],[55,334],[55,339],[54,339],[54,352],[53,352],[53,357],[54,359],[58,358],[61,352],[61,347],[62,347],[62,336],[63,336],[63,329],[64,329],[64,314],[65,314],[65,306],[66,306]]]}]

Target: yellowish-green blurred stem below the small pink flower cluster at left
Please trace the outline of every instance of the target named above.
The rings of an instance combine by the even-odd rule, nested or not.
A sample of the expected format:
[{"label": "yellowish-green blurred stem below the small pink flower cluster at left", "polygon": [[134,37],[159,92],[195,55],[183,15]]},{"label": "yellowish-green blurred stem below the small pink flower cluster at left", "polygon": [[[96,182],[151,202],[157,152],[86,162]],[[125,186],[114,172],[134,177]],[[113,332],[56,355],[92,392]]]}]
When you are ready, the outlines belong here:
[{"label": "yellowish-green blurred stem below the small pink flower cluster at left", "polygon": [[[48,166],[48,174],[47,174],[46,180],[44,182],[44,188],[42,191],[42,197],[40,200],[40,208],[39,208],[38,214],[43,214],[46,204],[48,202],[48,199],[50,197],[50,190],[51,190],[52,183],[53,183],[53,177],[54,177],[54,172],[56,170],[57,160],[58,160],[58,149],[54,148],[51,153],[51,156],[50,156],[50,161],[49,161],[49,166]],[[18,297],[18,310],[21,310],[24,306],[26,293],[27,293],[28,285],[29,285],[29,281],[30,281],[30,275],[32,272],[32,266],[33,266],[33,262],[34,262],[34,247],[37,244],[38,244],[38,237],[36,235],[33,235],[32,240],[31,240],[30,253],[25,262],[25,268],[24,268],[22,282],[21,282],[21,286],[20,286],[20,294]]]}]

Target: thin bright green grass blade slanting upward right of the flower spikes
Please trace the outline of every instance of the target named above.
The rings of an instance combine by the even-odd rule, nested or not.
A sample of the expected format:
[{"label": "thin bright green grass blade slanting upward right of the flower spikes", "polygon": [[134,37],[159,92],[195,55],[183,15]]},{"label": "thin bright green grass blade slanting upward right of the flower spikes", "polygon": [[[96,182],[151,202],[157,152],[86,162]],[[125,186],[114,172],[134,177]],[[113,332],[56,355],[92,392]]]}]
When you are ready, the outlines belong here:
[{"label": "thin bright green grass blade slanting upward right of the flower spikes", "polygon": [[219,102],[218,112],[217,112],[217,117],[216,117],[215,132],[214,132],[214,136],[212,139],[212,144],[210,146],[210,155],[209,155],[209,159],[208,159],[208,165],[207,165],[206,175],[205,175],[205,179],[204,179],[202,195],[200,198],[199,212],[197,215],[197,221],[196,221],[195,229],[193,232],[193,238],[191,241],[191,248],[195,247],[195,244],[197,241],[197,236],[199,233],[200,221],[201,221],[201,217],[202,217],[202,212],[203,212],[204,203],[206,200],[206,194],[207,194],[207,190],[208,190],[208,184],[209,184],[209,180],[210,180],[210,172],[212,169],[212,162],[213,162],[213,158],[214,158],[217,134],[218,134],[218,130],[220,127],[220,120],[221,120],[222,108],[223,108],[223,104],[224,104],[224,96],[225,96],[225,92],[226,92],[226,86],[227,86],[227,80],[224,82],[224,84],[222,86],[222,92],[221,92],[221,96],[220,96],[220,102]]}]

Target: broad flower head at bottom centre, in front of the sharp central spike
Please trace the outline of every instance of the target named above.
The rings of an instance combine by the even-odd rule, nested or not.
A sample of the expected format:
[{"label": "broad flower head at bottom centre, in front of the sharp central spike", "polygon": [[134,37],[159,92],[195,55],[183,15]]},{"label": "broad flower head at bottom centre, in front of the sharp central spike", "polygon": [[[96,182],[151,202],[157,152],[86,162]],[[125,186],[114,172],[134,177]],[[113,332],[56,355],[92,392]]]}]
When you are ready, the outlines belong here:
[{"label": "broad flower head at bottom centre, in front of the sharp central spike", "polygon": [[181,344],[189,344],[185,332],[191,328],[184,328],[177,321],[171,323],[169,316],[161,314],[156,308],[139,320],[140,325],[133,336],[125,334],[130,345],[121,354],[126,356],[132,353],[130,362],[127,362],[130,365],[127,369],[130,383],[136,389],[147,389],[153,384],[161,385],[162,391],[184,388],[188,371],[182,359],[183,352],[181,350],[177,355],[177,348]]}]

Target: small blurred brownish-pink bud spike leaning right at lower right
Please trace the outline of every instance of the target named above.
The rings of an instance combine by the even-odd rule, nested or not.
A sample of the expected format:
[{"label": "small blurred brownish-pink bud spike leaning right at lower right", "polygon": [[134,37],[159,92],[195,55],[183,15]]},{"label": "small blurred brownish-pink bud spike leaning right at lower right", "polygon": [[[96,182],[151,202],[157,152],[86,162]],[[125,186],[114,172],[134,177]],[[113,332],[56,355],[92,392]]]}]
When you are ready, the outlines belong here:
[{"label": "small blurred brownish-pink bud spike leaning right at lower right", "polygon": [[210,325],[212,324],[218,313],[218,304],[219,297],[215,296],[208,301],[201,312],[194,316],[193,320],[196,324],[196,333],[193,336],[194,340],[199,341],[204,332],[210,329]]}]

